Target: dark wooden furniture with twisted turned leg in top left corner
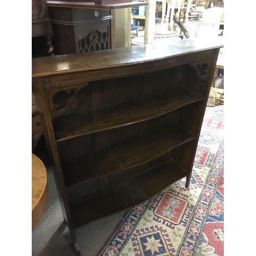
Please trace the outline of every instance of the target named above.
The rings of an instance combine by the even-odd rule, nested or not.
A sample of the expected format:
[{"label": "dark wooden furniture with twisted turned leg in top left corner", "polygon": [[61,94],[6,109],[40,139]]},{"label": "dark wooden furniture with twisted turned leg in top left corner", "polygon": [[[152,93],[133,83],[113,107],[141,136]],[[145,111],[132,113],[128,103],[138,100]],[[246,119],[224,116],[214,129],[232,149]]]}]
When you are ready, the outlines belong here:
[{"label": "dark wooden furniture with twisted turned leg in top left corner", "polygon": [[32,0],[32,38],[46,36],[49,55],[54,55],[53,29],[47,8],[47,0]]}]

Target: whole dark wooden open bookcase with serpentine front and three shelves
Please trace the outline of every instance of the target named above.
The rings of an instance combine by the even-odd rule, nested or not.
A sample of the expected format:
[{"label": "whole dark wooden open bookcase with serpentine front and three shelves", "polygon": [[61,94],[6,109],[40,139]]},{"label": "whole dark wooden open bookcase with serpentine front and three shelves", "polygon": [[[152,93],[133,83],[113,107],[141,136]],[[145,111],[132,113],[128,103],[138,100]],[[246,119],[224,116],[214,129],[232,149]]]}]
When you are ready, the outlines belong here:
[{"label": "whole dark wooden open bookcase with serpentine front and three shelves", "polygon": [[75,229],[186,177],[223,41],[186,39],[32,59],[63,217]]}]

